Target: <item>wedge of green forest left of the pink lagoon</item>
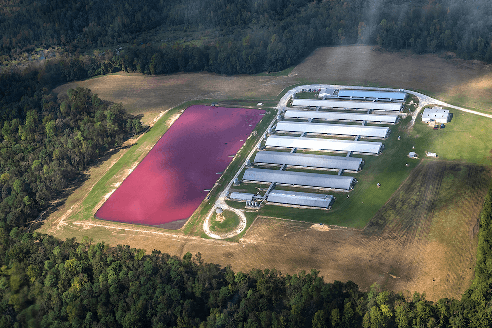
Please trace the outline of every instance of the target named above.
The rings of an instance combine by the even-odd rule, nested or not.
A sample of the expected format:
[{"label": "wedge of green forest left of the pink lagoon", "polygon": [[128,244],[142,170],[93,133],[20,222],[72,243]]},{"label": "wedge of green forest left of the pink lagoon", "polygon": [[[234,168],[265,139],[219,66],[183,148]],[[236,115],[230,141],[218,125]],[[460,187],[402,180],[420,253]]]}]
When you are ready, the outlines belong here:
[{"label": "wedge of green forest left of the pink lagoon", "polygon": [[[142,131],[122,104],[69,89],[61,103],[38,72],[0,75],[0,226],[35,218],[107,150]],[[42,80],[42,79],[41,79]]]}]

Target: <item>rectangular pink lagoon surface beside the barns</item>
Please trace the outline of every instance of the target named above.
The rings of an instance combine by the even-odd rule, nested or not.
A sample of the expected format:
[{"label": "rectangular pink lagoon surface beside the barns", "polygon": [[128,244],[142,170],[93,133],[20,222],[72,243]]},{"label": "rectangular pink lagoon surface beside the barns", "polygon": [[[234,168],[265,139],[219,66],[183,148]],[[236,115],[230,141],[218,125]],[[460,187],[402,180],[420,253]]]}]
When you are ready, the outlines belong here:
[{"label": "rectangular pink lagoon surface beside the barns", "polygon": [[[188,107],[97,211],[103,220],[161,225],[200,205],[265,113]],[[252,125],[252,126],[251,126]]]}]

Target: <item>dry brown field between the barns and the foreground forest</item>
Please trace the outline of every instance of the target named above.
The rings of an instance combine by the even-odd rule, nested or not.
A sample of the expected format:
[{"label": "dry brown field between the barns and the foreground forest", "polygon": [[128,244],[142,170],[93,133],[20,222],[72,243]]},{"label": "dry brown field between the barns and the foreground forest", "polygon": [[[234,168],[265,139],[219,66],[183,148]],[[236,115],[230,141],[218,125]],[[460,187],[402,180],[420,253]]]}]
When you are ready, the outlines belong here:
[{"label": "dry brown field between the barns and the foreground forest", "polygon": [[200,252],[205,261],[236,271],[314,268],[330,282],[352,280],[363,289],[377,282],[425,292],[429,300],[459,299],[473,279],[478,218],[491,175],[491,168],[424,160],[364,230],[258,217],[238,243],[107,222],[66,221],[60,232],[178,256]]}]

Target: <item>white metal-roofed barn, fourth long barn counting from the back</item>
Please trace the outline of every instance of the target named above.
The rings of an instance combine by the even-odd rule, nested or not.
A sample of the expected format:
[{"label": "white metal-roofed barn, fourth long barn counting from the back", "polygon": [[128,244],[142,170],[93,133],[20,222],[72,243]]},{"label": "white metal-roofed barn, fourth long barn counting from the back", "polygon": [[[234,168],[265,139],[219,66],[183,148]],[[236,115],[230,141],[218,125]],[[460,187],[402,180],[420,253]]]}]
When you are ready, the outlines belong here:
[{"label": "white metal-roofed barn, fourth long barn counting from the back", "polygon": [[334,134],[342,136],[361,136],[383,138],[390,136],[391,130],[383,126],[344,125],[330,123],[303,123],[280,121],[275,128],[277,131],[307,132],[315,134]]}]

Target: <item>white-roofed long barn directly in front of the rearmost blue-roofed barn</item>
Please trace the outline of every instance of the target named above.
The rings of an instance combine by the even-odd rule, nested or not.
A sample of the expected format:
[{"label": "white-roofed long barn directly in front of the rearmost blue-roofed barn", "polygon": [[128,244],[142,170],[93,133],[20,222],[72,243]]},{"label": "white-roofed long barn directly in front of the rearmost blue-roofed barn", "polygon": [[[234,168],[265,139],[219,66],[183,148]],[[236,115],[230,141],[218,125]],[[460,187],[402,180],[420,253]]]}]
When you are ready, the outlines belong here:
[{"label": "white-roofed long barn directly in front of the rearmost blue-roofed barn", "polygon": [[322,107],[337,109],[355,109],[355,110],[377,110],[400,112],[403,110],[403,104],[392,102],[369,102],[369,101],[348,101],[348,100],[320,100],[320,99],[294,99],[294,107]]}]

